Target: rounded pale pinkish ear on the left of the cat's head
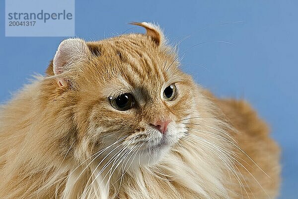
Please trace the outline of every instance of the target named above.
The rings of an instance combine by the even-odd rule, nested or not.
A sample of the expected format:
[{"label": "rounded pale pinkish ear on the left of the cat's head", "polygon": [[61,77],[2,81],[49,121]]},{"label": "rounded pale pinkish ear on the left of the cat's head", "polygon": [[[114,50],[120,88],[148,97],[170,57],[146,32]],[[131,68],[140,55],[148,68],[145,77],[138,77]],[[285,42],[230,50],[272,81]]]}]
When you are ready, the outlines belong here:
[{"label": "rounded pale pinkish ear on the left of the cat's head", "polygon": [[[53,59],[53,72],[61,75],[64,72],[75,72],[76,67],[90,56],[90,50],[82,39],[71,38],[62,41]],[[58,77],[57,83],[60,87],[67,86],[68,80],[65,77]]]}]

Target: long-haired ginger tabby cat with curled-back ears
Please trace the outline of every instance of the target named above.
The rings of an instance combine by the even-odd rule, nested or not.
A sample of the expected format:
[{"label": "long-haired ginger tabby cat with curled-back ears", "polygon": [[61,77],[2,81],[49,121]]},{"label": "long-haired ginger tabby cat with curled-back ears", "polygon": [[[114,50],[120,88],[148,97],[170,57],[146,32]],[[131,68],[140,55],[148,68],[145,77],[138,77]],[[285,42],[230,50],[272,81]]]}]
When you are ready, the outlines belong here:
[{"label": "long-haired ginger tabby cat with curled-back ears", "polygon": [[0,109],[1,199],[267,199],[280,149],[244,100],[180,70],[159,26],[61,42]]}]

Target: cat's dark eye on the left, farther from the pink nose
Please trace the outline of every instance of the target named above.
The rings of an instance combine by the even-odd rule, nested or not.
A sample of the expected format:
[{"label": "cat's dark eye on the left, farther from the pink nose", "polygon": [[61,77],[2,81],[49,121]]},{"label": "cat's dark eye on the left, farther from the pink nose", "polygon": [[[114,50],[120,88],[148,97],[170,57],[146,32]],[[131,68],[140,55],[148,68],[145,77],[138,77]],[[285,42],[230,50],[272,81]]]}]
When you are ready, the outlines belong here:
[{"label": "cat's dark eye on the left, farther from the pink nose", "polygon": [[128,110],[134,105],[134,97],[129,94],[122,94],[117,98],[109,98],[111,105],[117,110]]}]

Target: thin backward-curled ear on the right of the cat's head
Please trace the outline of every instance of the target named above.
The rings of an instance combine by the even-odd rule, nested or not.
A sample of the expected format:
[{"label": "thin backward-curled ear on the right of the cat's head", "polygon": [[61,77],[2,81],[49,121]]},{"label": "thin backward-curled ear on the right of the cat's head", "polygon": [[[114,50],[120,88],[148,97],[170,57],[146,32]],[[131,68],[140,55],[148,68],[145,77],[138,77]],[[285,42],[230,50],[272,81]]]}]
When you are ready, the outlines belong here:
[{"label": "thin backward-curled ear on the right of the cat's head", "polygon": [[164,35],[158,25],[148,22],[131,22],[131,24],[146,28],[146,34],[152,38],[152,40],[157,44],[157,46],[164,43]]}]

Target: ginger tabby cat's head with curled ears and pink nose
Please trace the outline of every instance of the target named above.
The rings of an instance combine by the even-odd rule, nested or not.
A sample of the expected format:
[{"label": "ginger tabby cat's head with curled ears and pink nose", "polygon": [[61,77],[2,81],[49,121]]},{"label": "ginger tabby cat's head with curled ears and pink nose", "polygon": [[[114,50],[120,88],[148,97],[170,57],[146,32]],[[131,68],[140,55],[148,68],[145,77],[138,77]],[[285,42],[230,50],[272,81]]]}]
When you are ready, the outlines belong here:
[{"label": "ginger tabby cat's head with curled ears and pink nose", "polygon": [[183,136],[182,120],[194,112],[196,86],[178,68],[175,48],[158,26],[134,24],[147,33],[64,40],[48,69],[59,95],[55,103],[76,124],[74,156],[81,161],[95,154],[90,160],[156,163]]}]

